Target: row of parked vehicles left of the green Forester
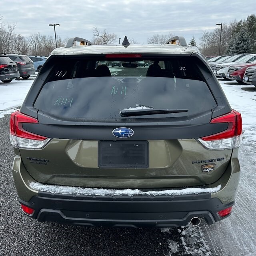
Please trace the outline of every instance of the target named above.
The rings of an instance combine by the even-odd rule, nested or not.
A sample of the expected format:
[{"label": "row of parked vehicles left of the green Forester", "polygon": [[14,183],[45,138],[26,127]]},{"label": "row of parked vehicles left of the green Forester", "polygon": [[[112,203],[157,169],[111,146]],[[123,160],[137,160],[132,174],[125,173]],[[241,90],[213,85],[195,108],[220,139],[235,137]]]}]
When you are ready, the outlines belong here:
[{"label": "row of parked vehicles left of the green Forester", "polygon": [[10,83],[13,79],[22,77],[30,78],[30,75],[38,72],[47,57],[27,56],[20,54],[0,54],[0,80]]}]

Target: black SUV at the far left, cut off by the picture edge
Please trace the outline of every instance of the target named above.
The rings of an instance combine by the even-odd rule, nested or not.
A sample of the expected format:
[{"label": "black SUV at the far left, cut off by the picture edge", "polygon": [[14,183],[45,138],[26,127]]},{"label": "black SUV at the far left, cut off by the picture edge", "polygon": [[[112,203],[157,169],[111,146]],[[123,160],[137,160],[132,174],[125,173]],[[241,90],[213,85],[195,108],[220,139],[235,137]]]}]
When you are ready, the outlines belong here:
[{"label": "black SUV at the far left, cut off by the picture edge", "polygon": [[19,76],[16,63],[8,58],[8,56],[0,54],[0,80],[3,83],[10,83]]}]

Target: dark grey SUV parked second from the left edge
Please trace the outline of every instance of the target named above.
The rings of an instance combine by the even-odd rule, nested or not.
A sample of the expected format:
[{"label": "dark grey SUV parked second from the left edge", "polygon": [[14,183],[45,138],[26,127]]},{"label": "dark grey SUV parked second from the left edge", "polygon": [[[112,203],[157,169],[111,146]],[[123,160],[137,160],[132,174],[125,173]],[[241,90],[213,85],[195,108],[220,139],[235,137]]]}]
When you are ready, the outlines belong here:
[{"label": "dark grey SUV parked second from the left edge", "polygon": [[31,74],[35,74],[35,68],[32,60],[26,55],[7,54],[18,66],[18,71],[23,79],[30,78]]}]

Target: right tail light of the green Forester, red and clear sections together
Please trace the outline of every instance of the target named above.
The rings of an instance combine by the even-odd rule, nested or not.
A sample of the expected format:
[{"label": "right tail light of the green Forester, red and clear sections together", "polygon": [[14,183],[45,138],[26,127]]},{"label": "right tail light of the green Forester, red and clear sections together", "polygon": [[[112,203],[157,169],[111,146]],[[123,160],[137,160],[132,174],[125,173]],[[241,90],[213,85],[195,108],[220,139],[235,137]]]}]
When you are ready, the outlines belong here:
[{"label": "right tail light of the green Forester, red and clear sections together", "polygon": [[242,142],[242,117],[239,112],[232,110],[223,116],[211,120],[211,124],[228,123],[228,128],[223,132],[199,138],[208,149],[238,148]]}]

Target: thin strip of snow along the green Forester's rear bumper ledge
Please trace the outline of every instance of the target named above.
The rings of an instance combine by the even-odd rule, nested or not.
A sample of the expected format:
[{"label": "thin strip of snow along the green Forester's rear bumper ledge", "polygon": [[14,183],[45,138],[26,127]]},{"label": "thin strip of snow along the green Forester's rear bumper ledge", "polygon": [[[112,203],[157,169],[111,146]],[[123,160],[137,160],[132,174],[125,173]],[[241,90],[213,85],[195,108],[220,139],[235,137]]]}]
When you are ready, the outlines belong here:
[{"label": "thin strip of snow along the green Forester's rear bumper ledge", "polygon": [[75,195],[93,195],[93,196],[135,196],[135,195],[148,195],[148,196],[175,196],[175,195],[188,195],[199,193],[215,193],[221,188],[221,185],[216,188],[184,188],[181,190],[170,189],[161,191],[141,191],[138,189],[105,189],[105,188],[82,188],[71,186],[58,186],[46,185],[39,182],[30,182],[30,188],[34,190],[41,190],[50,193],[59,194],[75,194]]}]

